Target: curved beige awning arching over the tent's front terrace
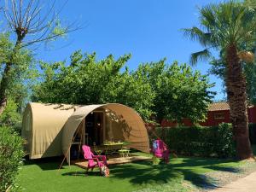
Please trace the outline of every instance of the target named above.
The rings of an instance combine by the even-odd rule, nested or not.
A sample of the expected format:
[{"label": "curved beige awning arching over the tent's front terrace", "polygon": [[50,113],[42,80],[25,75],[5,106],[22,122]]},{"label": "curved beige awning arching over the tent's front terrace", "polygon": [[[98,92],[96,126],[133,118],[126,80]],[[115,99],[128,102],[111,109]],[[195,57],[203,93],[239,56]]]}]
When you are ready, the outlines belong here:
[{"label": "curved beige awning arching over the tent's front terrace", "polygon": [[69,153],[73,136],[84,118],[97,108],[110,110],[119,117],[122,123],[125,123],[126,131],[123,131],[123,136],[125,137],[125,142],[129,143],[130,148],[136,148],[146,153],[149,152],[148,132],[140,115],[135,110],[125,105],[109,103],[80,107],[67,119],[61,139],[63,154],[67,155]]}]

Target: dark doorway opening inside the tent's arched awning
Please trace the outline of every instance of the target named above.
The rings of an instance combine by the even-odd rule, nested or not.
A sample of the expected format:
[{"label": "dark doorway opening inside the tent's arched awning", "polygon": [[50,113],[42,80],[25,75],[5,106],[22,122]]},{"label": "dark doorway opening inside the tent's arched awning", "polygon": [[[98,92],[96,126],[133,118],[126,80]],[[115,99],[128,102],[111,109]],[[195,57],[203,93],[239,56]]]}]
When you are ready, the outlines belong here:
[{"label": "dark doorway opening inside the tent's arched awning", "polygon": [[89,146],[104,143],[105,117],[101,111],[94,111],[85,117],[85,143]]}]

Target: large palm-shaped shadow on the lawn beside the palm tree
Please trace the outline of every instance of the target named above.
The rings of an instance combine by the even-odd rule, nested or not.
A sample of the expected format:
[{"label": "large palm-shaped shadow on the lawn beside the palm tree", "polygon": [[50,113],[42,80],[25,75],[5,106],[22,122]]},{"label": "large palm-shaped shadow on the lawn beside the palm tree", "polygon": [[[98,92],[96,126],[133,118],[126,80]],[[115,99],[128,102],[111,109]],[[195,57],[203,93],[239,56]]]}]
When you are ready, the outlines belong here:
[{"label": "large palm-shaped shadow on the lawn beside the palm tree", "polygon": [[[211,161],[211,160],[210,160]],[[214,160],[213,160],[214,161]],[[218,160],[217,160],[218,161]],[[234,162],[234,160],[230,160]],[[228,162],[226,160],[225,162]],[[111,170],[113,177],[121,179],[130,178],[130,182],[134,184],[146,184],[146,183],[170,183],[177,179],[184,179],[201,189],[215,189],[218,186],[208,177],[204,177],[203,174],[196,172],[195,166],[201,166],[201,168],[211,169],[212,171],[221,172],[240,172],[238,168],[221,166],[218,164],[209,165],[207,160],[194,160],[185,159],[179,164],[161,164],[159,166],[152,166],[149,161],[134,162],[133,165],[140,165],[138,167],[127,164],[123,166],[117,166]],[[215,162],[216,163],[216,162]],[[185,168],[184,168],[185,167]],[[194,170],[195,169],[195,170]]]}]

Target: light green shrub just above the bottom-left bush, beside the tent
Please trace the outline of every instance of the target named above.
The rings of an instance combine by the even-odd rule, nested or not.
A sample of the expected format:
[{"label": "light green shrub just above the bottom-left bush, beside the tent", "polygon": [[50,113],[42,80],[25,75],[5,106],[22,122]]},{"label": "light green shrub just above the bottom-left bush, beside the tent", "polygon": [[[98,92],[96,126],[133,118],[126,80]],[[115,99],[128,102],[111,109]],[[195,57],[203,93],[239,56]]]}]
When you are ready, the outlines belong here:
[{"label": "light green shrub just above the bottom-left bush, beside the tent", "polygon": [[18,104],[14,100],[9,99],[7,106],[0,116],[0,125],[13,127],[15,131],[20,133],[21,130],[21,114],[17,112]]}]

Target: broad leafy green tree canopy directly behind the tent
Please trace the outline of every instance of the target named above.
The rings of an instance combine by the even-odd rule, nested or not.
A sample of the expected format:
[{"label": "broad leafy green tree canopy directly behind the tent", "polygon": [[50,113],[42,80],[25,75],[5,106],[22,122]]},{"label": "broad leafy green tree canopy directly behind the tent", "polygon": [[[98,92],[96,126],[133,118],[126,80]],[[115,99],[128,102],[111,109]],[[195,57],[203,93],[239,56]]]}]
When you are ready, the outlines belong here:
[{"label": "broad leafy green tree canopy directly behind the tent", "polygon": [[[70,65],[64,62],[41,63],[42,81],[35,87],[34,102],[96,104],[119,102],[137,110],[148,120],[205,118],[213,93],[208,91],[207,76],[195,73],[187,65],[165,60],[140,65],[129,71],[125,63],[131,55],[114,60],[109,55],[96,61],[96,54],[71,55]],[[122,72],[123,71],[123,72]]]}]

